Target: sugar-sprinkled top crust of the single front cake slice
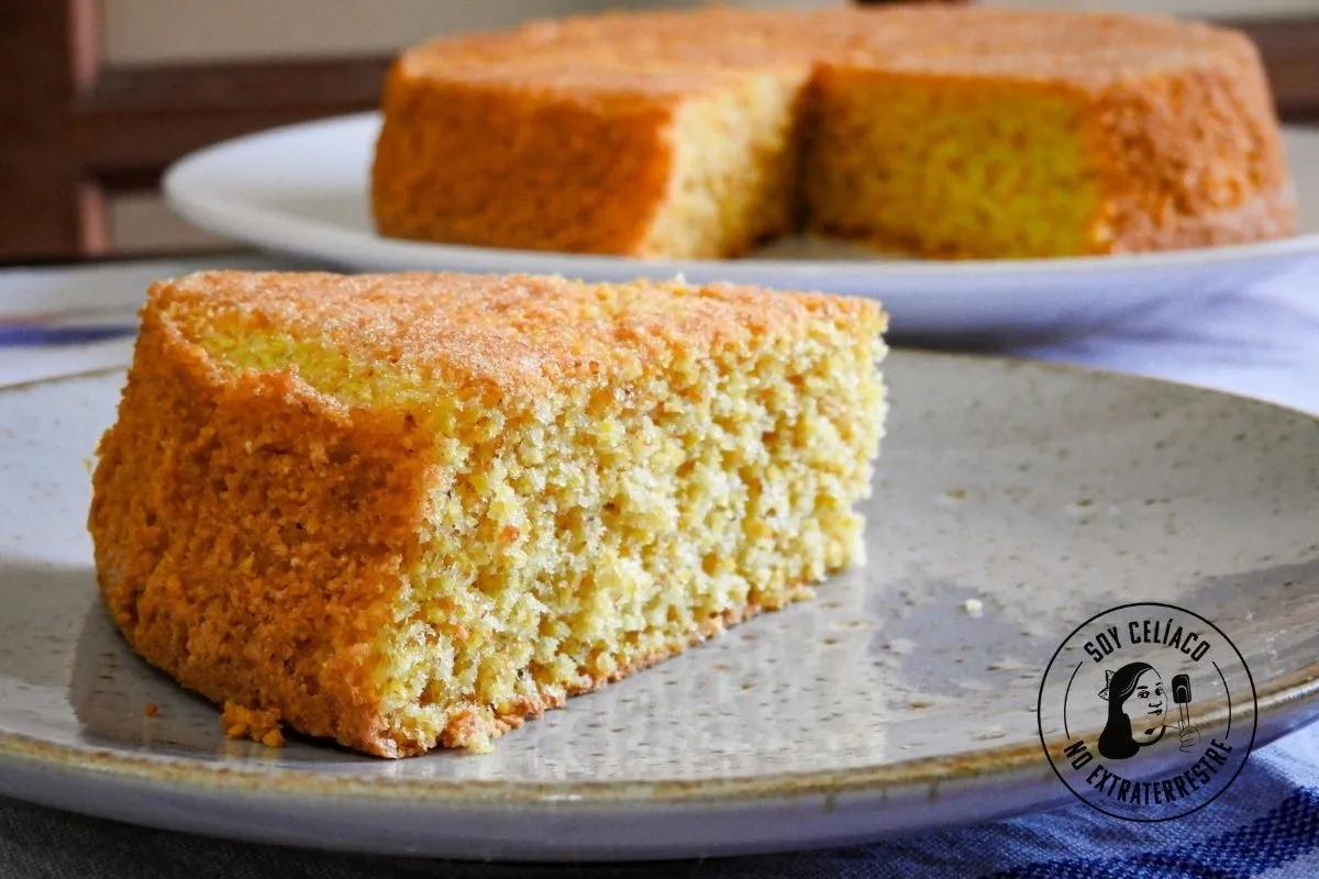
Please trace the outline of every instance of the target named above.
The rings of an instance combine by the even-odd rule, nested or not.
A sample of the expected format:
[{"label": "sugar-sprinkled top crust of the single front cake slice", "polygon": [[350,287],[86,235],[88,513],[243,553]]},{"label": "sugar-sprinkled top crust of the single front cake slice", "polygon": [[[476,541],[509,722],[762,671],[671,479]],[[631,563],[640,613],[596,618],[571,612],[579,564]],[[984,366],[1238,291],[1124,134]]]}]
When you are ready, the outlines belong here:
[{"label": "sugar-sprinkled top crust of the single front cake slice", "polygon": [[427,273],[203,271],[153,285],[146,311],[185,343],[204,347],[216,328],[286,333],[359,362],[518,395],[822,322],[860,335],[885,324],[877,303],[826,294]]}]

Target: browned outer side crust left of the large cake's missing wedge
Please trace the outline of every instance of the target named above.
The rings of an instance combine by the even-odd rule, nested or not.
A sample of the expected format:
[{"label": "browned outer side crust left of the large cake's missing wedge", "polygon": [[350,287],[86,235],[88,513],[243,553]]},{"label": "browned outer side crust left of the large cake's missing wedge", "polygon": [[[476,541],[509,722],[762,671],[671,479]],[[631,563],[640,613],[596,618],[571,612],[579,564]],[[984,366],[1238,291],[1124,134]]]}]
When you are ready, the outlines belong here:
[{"label": "browned outer side crust left of the large cake's missing wedge", "polygon": [[[372,170],[376,223],[404,239],[632,252],[666,192],[673,146],[663,132],[671,116],[673,100],[663,98],[584,100],[415,79],[400,62],[385,88]],[[578,184],[543,196],[546,181],[567,177]],[[628,199],[619,198],[623,191]],[[524,198],[509,198],[516,192]],[[532,225],[543,229],[534,241],[521,236]]]}]

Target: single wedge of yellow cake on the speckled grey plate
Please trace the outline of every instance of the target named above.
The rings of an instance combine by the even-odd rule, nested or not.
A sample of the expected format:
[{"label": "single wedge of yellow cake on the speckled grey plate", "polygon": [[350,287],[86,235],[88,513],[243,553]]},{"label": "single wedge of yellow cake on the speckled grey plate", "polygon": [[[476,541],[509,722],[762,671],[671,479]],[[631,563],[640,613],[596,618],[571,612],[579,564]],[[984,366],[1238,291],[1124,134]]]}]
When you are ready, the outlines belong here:
[{"label": "single wedge of yellow cake on the speckled grey plate", "polygon": [[106,604],[216,702],[485,747],[857,560],[884,324],[732,286],[158,283],[94,477]]}]

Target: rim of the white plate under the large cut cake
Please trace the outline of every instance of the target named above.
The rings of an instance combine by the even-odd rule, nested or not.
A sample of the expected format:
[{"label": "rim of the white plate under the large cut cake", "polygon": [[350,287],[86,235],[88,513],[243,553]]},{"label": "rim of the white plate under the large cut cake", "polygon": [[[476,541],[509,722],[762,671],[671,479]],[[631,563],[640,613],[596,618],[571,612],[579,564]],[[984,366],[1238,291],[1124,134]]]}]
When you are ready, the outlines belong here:
[{"label": "rim of the white plate under the large cut cake", "polygon": [[[314,221],[298,215],[278,213],[253,206],[251,202],[235,200],[208,192],[204,184],[198,184],[198,177],[207,171],[218,157],[233,152],[264,146],[291,134],[314,134],[319,129],[346,125],[376,125],[379,111],[364,111],[330,116],[311,121],[291,123],[268,128],[211,144],[173,162],[162,178],[162,190],[170,207],[187,220],[240,241],[261,248],[273,248],[305,256],[330,258],[336,249],[359,252],[363,246],[372,248],[375,256],[360,254],[367,264],[380,265],[390,257],[406,265],[425,261],[450,262],[459,269],[472,269],[476,264],[491,265],[492,261],[517,260],[536,261],[545,265],[545,271],[561,274],[612,273],[627,274],[692,274],[711,277],[719,273],[766,271],[783,278],[786,285],[810,286],[803,283],[811,278],[827,274],[851,281],[911,278],[921,281],[944,279],[963,281],[966,278],[1035,278],[1078,277],[1084,274],[1121,274],[1159,269],[1199,268],[1207,265],[1231,265],[1278,257],[1291,257],[1319,253],[1319,232],[1303,232],[1282,239],[1248,241],[1208,248],[1184,248],[1174,250],[1153,250],[1141,253],[1117,253],[1076,257],[1013,258],[1013,260],[782,260],[782,258],[732,258],[732,260],[665,260],[637,258],[609,254],[567,253],[562,250],[524,250],[512,248],[485,248],[466,244],[445,244],[389,239],[373,232],[347,229],[342,225]],[[1281,127],[1285,138],[1315,140],[1319,144],[1319,129],[1304,125]],[[368,170],[369,174],[369,170]],[[1289,186],[1295,190],[1294,179]],[[274,223],[274,228],[269,228]],[[253,224],[262,233],[253,235]],[[319,239],[319,244],[313,240]],[[485,269],[491,270],[491,269]],[[925,290],[922,295],[938,297],[939,291]]]}]

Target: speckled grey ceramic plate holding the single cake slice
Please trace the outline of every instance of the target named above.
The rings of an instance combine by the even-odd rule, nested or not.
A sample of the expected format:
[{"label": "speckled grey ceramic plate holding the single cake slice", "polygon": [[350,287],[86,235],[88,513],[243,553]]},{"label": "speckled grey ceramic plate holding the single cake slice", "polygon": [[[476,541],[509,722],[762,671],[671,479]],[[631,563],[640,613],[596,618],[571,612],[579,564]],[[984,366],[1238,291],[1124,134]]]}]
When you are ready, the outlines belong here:
[{"label": "speckled grey ceramic plate holding the single cake slice", "polygon": [[897,352],[888,373],[868,567],[493,754],[401,762],[226,741],[214,706],[133,656],[83,528],[121,374],[0,391],[0,792],[249,839],[495,858],[756,851],[992,818],[1072,801],[1039,747],[1037,691],[1078,623],[1129,601],[1182,605],[1236,642],[1257,747],[1316,714],[1319,422],[1038,364]]}]

